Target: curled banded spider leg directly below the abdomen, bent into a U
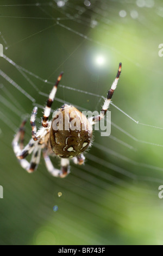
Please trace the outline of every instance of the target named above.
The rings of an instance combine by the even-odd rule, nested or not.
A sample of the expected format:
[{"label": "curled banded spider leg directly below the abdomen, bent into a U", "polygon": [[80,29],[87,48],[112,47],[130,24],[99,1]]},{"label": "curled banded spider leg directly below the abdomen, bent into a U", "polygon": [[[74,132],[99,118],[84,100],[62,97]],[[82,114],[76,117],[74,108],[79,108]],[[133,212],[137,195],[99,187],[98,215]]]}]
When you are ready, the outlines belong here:
[{"label": "curled banded spider leg directly below the abdomen, bent into a U", "polygon": [[70,161],[68,159],[61,159],[61,169],[59,170],[54,168],[46,150],[43,150],[43,158],[48,172],[54,177],[65,178],[70,173]]}]

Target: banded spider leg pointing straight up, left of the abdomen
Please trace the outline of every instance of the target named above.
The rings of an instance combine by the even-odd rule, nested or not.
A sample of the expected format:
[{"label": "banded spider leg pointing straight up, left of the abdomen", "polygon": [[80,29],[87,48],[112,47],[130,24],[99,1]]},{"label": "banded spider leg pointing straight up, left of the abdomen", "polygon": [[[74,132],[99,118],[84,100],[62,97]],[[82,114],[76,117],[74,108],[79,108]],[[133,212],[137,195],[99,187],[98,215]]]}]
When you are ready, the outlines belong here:
[{"label": "banded spider leg pointing straight up, left of the abdomen", "polygon": [[45,107],[45,111],[44,111],[43,119],[42,119],[42,126],[43,127],[48,127],[48,117],[51,113],[51,106],[52,106],[52,103],[54,101],[55,94],[57,92],[58,84],[59,84],[63,74],[64,73],[61,72],[61,74],[59,75],[59,77],[57,79],[57,82],[54,84],[54,87],[53,87],[51,93],[49,94],[49,98],[47,100],[47,105]]}]

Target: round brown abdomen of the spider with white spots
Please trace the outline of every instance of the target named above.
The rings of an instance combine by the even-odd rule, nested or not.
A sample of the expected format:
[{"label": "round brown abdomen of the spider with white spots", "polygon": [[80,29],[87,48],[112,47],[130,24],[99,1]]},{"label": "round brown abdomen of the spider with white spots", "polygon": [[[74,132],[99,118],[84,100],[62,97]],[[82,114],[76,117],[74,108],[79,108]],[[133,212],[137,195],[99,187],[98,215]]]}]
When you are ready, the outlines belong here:
[{"label": "round brown abdomen of the spider with white spots", "polygon": [[92,126],[77,108],[64,105],[53,113],[50,143],[53,152],[62,158],[78,156],[92,139]]}]

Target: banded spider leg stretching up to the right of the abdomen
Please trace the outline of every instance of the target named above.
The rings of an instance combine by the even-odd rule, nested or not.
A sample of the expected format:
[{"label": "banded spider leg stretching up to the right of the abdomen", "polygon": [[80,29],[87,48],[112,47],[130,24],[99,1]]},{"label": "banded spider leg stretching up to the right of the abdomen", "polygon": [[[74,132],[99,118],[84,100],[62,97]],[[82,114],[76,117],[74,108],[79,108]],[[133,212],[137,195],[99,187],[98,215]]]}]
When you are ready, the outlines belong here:
[{"label": "banded spider leg stretching up to the right of the abdomen", "polygon": [[107,95],[107,97],[105,99],[104,105],[103,105],[102,110],[101,110],[101,114],[100,115],[96,115],[96,117],[89,118],[89,121],[90,121],[91,125],[96,124],[102,118],[104,118],[104,116],[105,116],[105,114],[106,114],[106,112],[107,112],[107,110],[109,108],[112,95],[114,94],[114,91],[115,91],[115,89],[117,87],[117,83],[118,83],[118,80],[119,80],[120,75],[121,75],[121,68],[122,68],[122,63],[119,64],[117,76],[116,76],[114,82],[112,83],[111,89],[109,90],[108,95]]}]

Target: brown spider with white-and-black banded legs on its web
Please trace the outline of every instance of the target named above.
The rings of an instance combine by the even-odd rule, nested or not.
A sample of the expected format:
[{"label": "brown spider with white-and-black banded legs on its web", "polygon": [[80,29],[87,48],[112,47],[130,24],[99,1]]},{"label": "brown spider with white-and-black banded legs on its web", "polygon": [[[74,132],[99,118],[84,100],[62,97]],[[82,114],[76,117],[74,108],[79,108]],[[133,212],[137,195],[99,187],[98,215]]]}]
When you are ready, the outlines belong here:
[{"label": "brown spider with white-and-black banded legs on its web", "polygon": [[[99,115],[87,119],[85,115],[80,112],[77,108],[64,104],[61,108],[57,109],[53,113],[53,119],[48,120],[51,113],[51,106],[57,92],[58,84],[61,80],[63,72],[59,75],[57,82],[49,94],[47,100],[47,105],[44,109],[42,118],[42,127],[37,131],[35,125],[35,119],[37,114],[37,107],[34,107],[32,115],[30,117],[30,125],[32,126],[32,138],[26,147],[23,148],[24,140],[24,125],[26,120],[24,120],[17,131],[13,141],[12,147],[14,153],[21,164],[21,166],[27,170],[28,173],[33,173],[37,169],[40,162],[41,150],[43,153],[43,158],[45,160],[46,168],[49,173],[55,177],[64,178],[70,173],[70,159],[73,159],[76,164],[83,164],[85,161],[84,151],[90,147],[92,142],[92,126],[104,118],[106,111],[110,105],[110,101],[114,90],[116,89],[120,74],[121,74],[122,63],[119,64],[117,76],[115,81],[112,83],[111,89],[104,101],[102,111]],[[65,116],[68,113],[68,123],[73,120],[73,117],[77,117],[77,123],[79,125],[78,130],[65,130],[65,129],[53,129],[53,122],[59,117],[60,113]],[[71,117],[70,117],[71,116]],[[82,129],[84,125],[85,129]],[[20,142],[19,142],[20,141]],[[30,162],[26,160],[28,155],[32,154]],[[49,156],[56,155],[60,158],[61,169],[56,169]]]}]

